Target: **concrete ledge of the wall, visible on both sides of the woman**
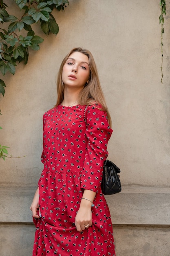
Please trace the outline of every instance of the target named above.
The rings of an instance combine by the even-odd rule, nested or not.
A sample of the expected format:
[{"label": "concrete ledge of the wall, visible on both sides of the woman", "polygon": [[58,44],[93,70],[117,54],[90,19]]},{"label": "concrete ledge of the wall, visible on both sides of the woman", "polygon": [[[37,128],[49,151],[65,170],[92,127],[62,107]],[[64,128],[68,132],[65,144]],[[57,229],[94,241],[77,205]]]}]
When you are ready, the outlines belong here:
[{"label": "concrete ledge of the wall, visible on both sides of the woman", "polygon": [[[32,222],[36,189],[0,189],[0,221]],[[170,189],[128,186],[106,196],[113,224],[170,225]]]}]

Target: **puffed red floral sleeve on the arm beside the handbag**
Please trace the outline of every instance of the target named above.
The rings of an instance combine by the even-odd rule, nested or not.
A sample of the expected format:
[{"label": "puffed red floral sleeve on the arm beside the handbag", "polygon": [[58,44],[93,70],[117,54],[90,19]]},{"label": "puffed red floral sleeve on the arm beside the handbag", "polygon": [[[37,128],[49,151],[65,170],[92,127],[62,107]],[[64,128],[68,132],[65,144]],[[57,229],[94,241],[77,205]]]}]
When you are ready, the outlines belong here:
[{"label": "puffed red floral sleeve on the arm beside the handbag", "polygon": [[88,106],[85,113],[88,144],[81,178],[81,188],[94,192],[101,185],[104,161],[108,156],[108,140],[113,132],[107,113],[98,108],[97,104]]}]

